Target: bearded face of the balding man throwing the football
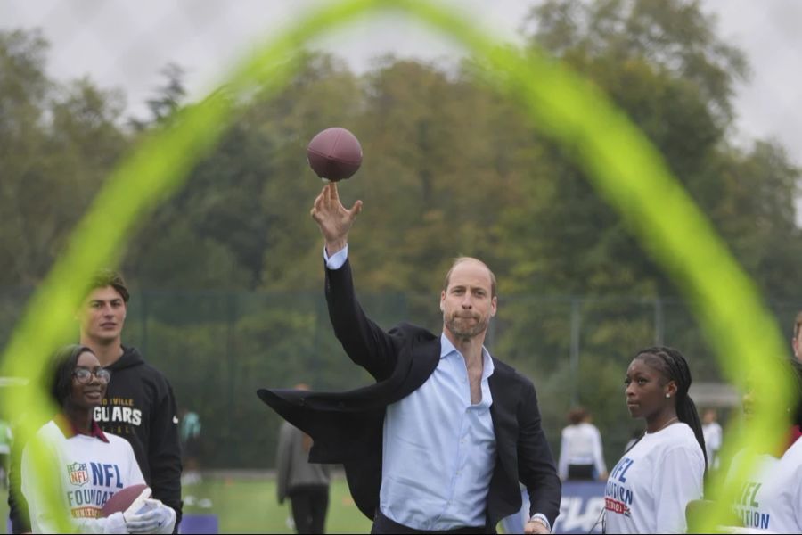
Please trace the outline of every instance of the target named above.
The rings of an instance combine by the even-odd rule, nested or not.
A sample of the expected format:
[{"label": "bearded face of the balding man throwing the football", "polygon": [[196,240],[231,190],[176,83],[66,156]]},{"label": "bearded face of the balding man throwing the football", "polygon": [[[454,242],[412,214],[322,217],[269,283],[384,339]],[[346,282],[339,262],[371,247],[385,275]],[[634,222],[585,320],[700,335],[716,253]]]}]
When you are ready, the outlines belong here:
[{"label": "bearded face of the balding man throwing the football", "polygon": [[476,260],[465,260],[451,272],[448,287],[440,293],[443,325],[455,338],[469,340],[487,331],[495,316],[490,272]]}]

